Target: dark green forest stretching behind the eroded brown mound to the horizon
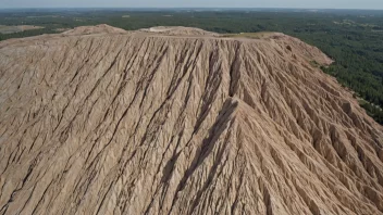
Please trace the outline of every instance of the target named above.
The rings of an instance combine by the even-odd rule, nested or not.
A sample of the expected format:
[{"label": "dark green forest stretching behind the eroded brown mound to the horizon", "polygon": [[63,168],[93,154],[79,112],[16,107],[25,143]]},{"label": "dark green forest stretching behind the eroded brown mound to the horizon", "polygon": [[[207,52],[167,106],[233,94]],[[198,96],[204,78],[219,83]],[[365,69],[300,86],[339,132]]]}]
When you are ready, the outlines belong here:
[{"label": "dark green forest stretching behind the eroded brown mound to the horizon", "polygon": [[322,67],[323,72],[355,91],[367,113],[383,124],[383,11],[0,11],[0,25],[45,27],[0,34],[0,40],[103,23],[127,30],[181,25],[217,33],[281,31],[297,37],[335,60],[331,66]]}]

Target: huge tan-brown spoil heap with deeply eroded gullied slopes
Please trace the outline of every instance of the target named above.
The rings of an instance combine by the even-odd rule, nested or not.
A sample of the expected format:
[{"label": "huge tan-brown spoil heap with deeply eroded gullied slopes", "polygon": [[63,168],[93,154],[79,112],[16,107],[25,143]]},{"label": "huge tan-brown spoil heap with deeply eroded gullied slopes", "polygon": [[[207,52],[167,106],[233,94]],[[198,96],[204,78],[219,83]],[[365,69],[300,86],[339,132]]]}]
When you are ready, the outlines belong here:
[{"label": "huge tan-brown spoil heap with deeply eroded gullied slopes", "polygon": [[383,214],[383,129],[330,59],[194,31],[0,42],[0,213]]}]

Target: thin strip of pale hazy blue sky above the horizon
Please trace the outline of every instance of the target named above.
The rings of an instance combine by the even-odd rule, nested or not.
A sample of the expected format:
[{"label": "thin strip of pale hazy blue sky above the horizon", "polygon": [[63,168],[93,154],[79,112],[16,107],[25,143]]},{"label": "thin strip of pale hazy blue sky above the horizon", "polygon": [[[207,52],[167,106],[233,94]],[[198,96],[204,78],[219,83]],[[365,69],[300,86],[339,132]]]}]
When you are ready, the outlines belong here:
[{"label": "thin strip of pale hazy blue sky above the horizon", "polygon": [[0,0],[0,8],[304,8],[383,10],[383,0]]}]

